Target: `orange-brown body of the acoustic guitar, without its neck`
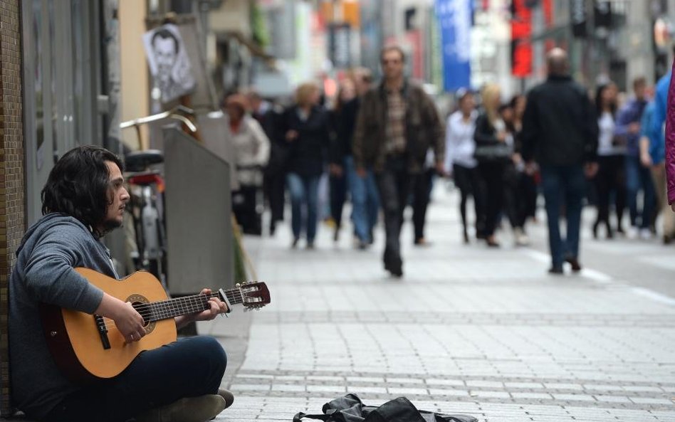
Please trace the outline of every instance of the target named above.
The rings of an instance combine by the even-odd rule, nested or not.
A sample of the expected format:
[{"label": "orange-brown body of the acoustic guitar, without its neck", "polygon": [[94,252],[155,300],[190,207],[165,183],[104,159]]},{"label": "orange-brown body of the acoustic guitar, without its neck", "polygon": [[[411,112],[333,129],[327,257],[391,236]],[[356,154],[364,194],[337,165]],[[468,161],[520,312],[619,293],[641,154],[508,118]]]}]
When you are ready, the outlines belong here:
[{"label": "orange-brown body of the acoustic guitar, without its neck", "polygon": [[[115,280],[94,270],[75,269],[90,283],[113,297],[134,305],[167,300],[167,293],[154,275],[137,272],[124,280]],[[142,311],[139,311],[143,315]],[[41,305],[43,329],[48,347],[56,364],[80,383],[108,379],[124,371],[144,350],[156,349],[176,341],[173,318],[153,321],[146,325],[147,334],[140,341],[125,342],[115,323],[104,318],[110,348],[104,342],[94,315],[66,310],[53,305]]]}]

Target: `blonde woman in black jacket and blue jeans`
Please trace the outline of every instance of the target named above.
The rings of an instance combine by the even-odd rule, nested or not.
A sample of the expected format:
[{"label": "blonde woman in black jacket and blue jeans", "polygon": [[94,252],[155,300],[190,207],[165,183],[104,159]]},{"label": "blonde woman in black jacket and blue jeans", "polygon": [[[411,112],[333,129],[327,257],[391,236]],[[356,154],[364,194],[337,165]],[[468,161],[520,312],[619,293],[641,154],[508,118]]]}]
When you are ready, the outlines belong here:
[{"label": "blonde woman in black jacket and blue jeans", "polygon": [[292,247],[305,229],[307,248],[314,248],[318,218],[318,186],[328,149],[328,116],[320,107],[321,91],[315,83],[295,90],[295,105],[282,119],[281,133],[288,142],[286,184],[291,194]]}]

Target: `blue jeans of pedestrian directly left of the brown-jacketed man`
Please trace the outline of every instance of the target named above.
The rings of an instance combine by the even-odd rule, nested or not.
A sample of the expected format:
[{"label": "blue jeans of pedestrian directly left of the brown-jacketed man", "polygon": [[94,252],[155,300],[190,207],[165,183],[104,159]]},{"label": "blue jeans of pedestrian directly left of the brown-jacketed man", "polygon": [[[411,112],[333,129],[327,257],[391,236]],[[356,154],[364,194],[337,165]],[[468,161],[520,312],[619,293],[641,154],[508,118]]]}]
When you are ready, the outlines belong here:
[{"label": "blue jeans of pedestrian directly left of the brown-jacketed man", "polygon": [[377,213],[380,209],[380,195],[377,193],[377,183],[372,170],[366,171],[365,177],[356,174],[354,157],[345,158],[347,181],[352,197],[352,223],[357,238],[362,242],[372,241],[370,235],[377,223]]}]

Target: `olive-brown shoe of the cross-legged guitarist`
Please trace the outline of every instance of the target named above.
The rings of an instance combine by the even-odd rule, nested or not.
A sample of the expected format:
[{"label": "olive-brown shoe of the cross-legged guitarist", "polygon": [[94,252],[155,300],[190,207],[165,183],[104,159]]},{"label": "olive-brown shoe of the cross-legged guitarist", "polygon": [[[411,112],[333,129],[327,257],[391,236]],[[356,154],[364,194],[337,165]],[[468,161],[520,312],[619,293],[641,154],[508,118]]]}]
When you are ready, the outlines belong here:
[{"label": "olive-brown shoe of the cross-legged guitarist", "polygon": [[[234,398],[233,398],[234,401]],[[206,422],[227,407],[219,394],[186,397],[136,416],[136,422]]]}]

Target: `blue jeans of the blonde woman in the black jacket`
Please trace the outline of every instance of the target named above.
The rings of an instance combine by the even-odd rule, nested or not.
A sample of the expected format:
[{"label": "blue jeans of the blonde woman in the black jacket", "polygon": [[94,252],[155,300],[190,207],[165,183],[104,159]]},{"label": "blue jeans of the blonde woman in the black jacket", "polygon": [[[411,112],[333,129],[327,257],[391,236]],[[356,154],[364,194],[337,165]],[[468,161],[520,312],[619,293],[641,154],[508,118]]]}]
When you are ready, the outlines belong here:
[{"label": "blue jeans of the blonde woman in the black jacket", "polygon": [[[307,241],[313,243],[316,236],[319,176],[300,176],[297,173],[288,173],[286,183],[291,194],[293,238],[299,239],[303,226],[305,226]],[[306,207],[305,215],[303,215],[303,206]],[[303,221],[305,221],[304,224]]]}]

